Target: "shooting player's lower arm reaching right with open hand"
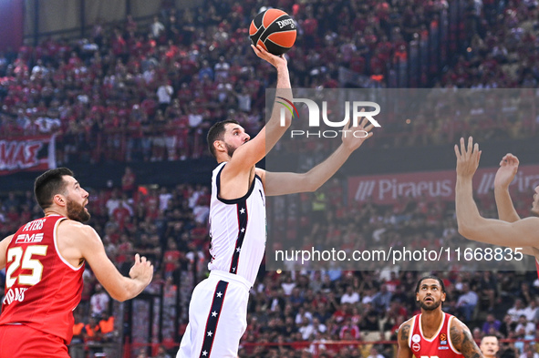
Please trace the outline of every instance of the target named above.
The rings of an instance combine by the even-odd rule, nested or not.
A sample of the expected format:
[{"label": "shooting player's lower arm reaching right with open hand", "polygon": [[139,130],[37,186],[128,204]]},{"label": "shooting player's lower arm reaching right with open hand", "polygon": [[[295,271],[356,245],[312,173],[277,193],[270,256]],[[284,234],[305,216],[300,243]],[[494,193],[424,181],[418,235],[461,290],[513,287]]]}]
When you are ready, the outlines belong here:
[{"label": "shooting player's lower arm reaching right with open hand", "polygon": [[[372,137],[370,131],[373,126],[367,119],[358,121],[358,127],[349,130],[349,123],[343,128],[342,144],[322,163],[306,173],[273,173],[256,169],[257,174],[264,183],[267,196],[293,194],[297,192],[316,191],[328,179],[333,177],[339,168],[347,161],[350,154],[358,149],[368,138]],[[356,138],[353,131],[365,131],[365,137]],[[361,136],[358,136],[361,137]]]}]

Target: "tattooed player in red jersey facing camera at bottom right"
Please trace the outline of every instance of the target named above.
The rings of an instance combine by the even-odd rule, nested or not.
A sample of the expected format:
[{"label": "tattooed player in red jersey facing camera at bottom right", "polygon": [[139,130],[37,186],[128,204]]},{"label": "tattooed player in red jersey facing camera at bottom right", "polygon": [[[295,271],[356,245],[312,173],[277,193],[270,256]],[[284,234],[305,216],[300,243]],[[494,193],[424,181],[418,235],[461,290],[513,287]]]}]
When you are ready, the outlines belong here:
[{"label": "tattooed player in red jersey facing camera at bottom right", "polygon": [[435,276],[426,276],[416,286],[416,301],[421,313],[399,327],[397,358],[482,358],[473,341],[472,332],[464,323],[441,311],[445,302],[445,286]]}]

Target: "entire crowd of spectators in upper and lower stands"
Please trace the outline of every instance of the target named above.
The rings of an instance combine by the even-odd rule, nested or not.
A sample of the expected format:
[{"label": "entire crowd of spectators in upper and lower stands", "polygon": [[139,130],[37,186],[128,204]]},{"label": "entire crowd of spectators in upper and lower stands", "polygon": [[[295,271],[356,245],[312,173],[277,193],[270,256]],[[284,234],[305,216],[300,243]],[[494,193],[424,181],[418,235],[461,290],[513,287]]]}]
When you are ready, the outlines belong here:
[{"label": "entire crowd of spectators in upper and lower stands", "polygon": [[[287,55],[293,87],[312,88],[342,86],[339,67],[386,86],[390,68],[406,60],[409,42],[426,36],[451,6],[443,0],[208,0],[192,9],[165,9],[150,26],[130,16],[124,24],[98,23],[86,38],[48,38],[37,46],[0,53],[0,138],[56,133],[61,164],[199,158],[206,155],[205,131],[224,118],[238,119],[256,133],[264,124],[264,89],[275,81],[275,71],[254,56],[247,39],[248,25],[262,5],[275,5],[294,16],[298,40]],[[454,66],[435,74],[435,87],[537,87],[536,1],[470,0],[464,10],[459,33],[464,51],[453,49],[460,55]],[[499,138],[500,131],[511,138],[535,135],[534,118],[492,123],[480,109],[456,122],[430,120],[429,113],[411,123],[390,118],[375,140],[399,147],[453,143],[461,132],[485,139]],[[406,141],[393,135],[397,132],[406,133]],[[323,190],[331,198],[334,189]],[[522,198],[527,200],[527,193]],[[481,204],[485,216],[496,217],[492,199]],[[204,186],[139,187],[126,169],[121,188],[91,192],[88,210],[91,225],[120,271],[127,274],[131,254],[140,252],[154,262],[155,285],[181,290],[186,274],[195,281],[205,274],[208,205],[209,189]],[[440,245],[458,238],[452,210],[451,202],[421,199],[403,199],[393,207],[366,202],[344,210],[337,199],[325,207],[330,214],[309,212],[319,221],[316,231],[306,235],[324,242],[349,231],[352,247],[360,249],[396,240],[418,247]],[[0,237],[41,214],[30,191],[0,195]],[[295,234],[297,228],[291,230],[283,234]],[[240,356],[391,358],[393,344],[331,343],[394,340],[399,324],[418,312],[414,291],[422,273],[261,271]],[[487,333],[535,338],[535,272],[454,268],[438,274],[448,290],[444,311],[466,322],[476,339]],[[3,279],[0,273],[0,293]],[[186,312],[189,297],[181,300]],[[110,317],[116,313],[112,300],[89,270],[77,313],[76,343],[114,341],[123,333],[118,326],[111,330]],[[186,314],[180,314],[178,323],[180,332],[174,333],[181,334]],[[537,351],[523,342],[504,343],[500,356],[517,357],[530,347]],[[160,347],[155,356],[166,357],[164,351]]]}]

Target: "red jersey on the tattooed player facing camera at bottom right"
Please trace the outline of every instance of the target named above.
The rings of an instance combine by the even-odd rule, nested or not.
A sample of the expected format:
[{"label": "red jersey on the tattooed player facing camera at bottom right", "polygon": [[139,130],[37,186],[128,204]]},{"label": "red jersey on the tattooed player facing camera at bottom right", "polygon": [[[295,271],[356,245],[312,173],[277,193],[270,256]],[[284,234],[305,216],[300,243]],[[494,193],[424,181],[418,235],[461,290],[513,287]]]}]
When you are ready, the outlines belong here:
[{"label": "red jersey on the tattooed player facing camera at bottom right", "polygon": [[421,329],[421,315],[414,316],[411,322],[411,334],[409,335],[408,344],[409,349],[416,358],[462,357],[462,354],[451,343],[450,328],[453,318],[451,314],[444,312],[438,332],[430,339],[427,339]]}]

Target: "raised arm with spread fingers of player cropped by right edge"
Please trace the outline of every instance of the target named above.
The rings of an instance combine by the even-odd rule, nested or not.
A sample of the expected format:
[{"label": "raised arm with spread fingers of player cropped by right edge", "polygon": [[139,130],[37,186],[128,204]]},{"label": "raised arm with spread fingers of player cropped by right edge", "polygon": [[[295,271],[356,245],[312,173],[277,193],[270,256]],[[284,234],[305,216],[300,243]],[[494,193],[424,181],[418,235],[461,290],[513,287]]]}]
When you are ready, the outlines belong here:
[{"label": "raised arm with spread fingers of player cropped by right edge", "polygon": [[460,150],[455,146],[457,156],[457,185],[455,209],[459,233],[469,240],[476,240],[506,247],[534,246],[539,242],[539,218],[526,218],[514,222],[484,219],[479,214],[473,200],[472,179],[479,166],[481,151],[468,139],[468,148],[461,138]]}]

